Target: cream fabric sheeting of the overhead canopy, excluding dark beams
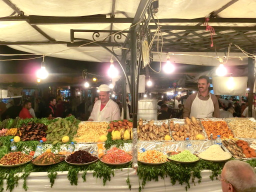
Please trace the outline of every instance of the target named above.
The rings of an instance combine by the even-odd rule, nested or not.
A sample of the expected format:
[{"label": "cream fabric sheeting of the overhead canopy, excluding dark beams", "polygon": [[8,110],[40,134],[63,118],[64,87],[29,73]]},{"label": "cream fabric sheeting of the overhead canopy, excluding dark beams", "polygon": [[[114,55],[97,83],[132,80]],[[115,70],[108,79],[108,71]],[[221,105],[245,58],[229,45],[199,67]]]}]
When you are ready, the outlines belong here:
[{"label": "cream fabric sheeting of the overhead canopy, excluding dark beams", "polygon": [[[93,14],[105,14],[110,17],[112,0],[10,0],[24,15],[42,16],[86,16]],[[116,18],[133,18],[140,0],[116,0],[114,15]],[[212,11],[219,9],[230,0],[159,0],[157,18],[199,18],[207,17]],[[0,17],[13,15],[13,10],[0,0]],[[16,13],[14,14],[16,15]],[[218,13],[220,17],[230,18],[256,18],[255,0],[238,0],[228,8]],[[127,29],[131,23],[113,23],[113,30]],[[188,23],[171,23],[172,25],[188,25]],[[215,26],[227,25],[226,23],[211,23]],[[228,23],[230,26],[254,26],[255,23]],[[58,41],[70,41],[70,29],[109,30],[110,23],[100,24],[41,24],[37,25],[51,38]],[[92,33],[75,34],[75,37],[83,37],[92,40]],[[107,36],[102,33],[99,38]],[[121,38],[120,42],[124,42]],[[47,39],[30,26],[26,21],[0,21],[0,41],[47,41]],[[9,45],[10,47],[30,53],[45,54],[48,56],[85,61],[106,62],[110,60],[110,53],[101,47],[67,47],[66,44],[41,44],[41,45]],[[109,47],[111,48],[111,47]],[[117,47],[116,47],[117,48]],[[60,51],[60,52],[59,52]],[[121,50],[117,50],[120,53]],[[56,53],[58,52],[58,53]],[[193,53],[213,54],[213,53]],[[215,54],[215,53],[214,53]],[[243,53],[234,53],[243,56]],[[219,53],[219,55],[221,55]],[[153,55],[154,61],[159,57]],[[166,55],[162,56],[165,61]],[[198,64],[217,65],[213,58],[173,55],[171,61]],[[247,64],[247,60],[230,59],[230,65]]]}]

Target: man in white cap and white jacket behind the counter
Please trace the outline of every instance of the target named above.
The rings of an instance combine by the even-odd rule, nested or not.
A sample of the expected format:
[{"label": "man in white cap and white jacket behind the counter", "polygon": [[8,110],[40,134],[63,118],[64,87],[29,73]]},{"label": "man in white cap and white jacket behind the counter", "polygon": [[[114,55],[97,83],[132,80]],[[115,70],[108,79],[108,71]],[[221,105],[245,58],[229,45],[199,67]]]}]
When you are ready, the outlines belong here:
[{"label": "man in white cap and white jacket behind the counter", "polygon": [[110,89],[107,84],[99,86],[98,98],[89,116],[89,121],[111,121],[120,119],[120,110],[116,102],[109,98]]}]

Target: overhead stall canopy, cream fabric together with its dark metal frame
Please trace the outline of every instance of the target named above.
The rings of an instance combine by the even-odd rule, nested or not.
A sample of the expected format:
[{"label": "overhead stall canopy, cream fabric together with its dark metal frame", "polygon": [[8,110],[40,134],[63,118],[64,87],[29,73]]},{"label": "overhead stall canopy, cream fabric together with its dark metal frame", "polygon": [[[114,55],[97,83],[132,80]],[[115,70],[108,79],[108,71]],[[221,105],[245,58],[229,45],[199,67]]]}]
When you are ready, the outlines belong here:
[{"label": "overhead stall canopy, cream fabric together with its dark metal frame", "polygon": [[[86,29],[74,32],[75,38],[103,40],[106,47],[114,46],[121,53],[125,36],[114,41],[112,32],[129,30],[133,18],[149,0],[0,0],[0,44],[14,49],[46,54],[66,59],[86,61],[109,61],[110,53],[102,47],[86,41],[70,40],[70,29]],[[12,16],[16,15],[18,16]],[[157,17],[156,17],[157,16]],[[213,47],[211,35],[205,31],[204,17],[210,16],[209,25],[215,33]],[[159,0],[158,12],[163,38],[163,51],[190,53],[193,55],[224,56],[232,42],[242,49],[255,50],[256,2],[254,0]],[[247,19],[244,19],[247,18]],[[157,26],[151,21],[152,36]],[[95,30],[109,30],[98,37]],[[88,32],[91,31],[91,32]],[[109,33],[110,32],[110,33]],[[125,31],[123,31],[124,34]],[[157,39],[154,44],[157,43]],[[80,46],[82,45],[82,46]],[[156,51],[156,49],[155,49]],[[215,52],[216,51],[216,52]],[[207,53],[205,53],[207,52]],[[240,49],[232,46],[229,55],[244,56]],[[232,53],[235,52],[235,53]],[[153,60],[165,61],[166,55],[153,53]],[[211,57],[172,55],[173,62],[218,65]],[[228,64],[247,64],[247,59],[229,59]]]}]

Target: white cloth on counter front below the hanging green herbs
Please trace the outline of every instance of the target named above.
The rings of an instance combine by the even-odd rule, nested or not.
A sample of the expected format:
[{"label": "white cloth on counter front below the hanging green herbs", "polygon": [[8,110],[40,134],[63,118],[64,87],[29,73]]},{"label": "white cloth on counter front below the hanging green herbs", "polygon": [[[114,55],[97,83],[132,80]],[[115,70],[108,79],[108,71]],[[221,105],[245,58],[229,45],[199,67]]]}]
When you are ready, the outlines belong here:
[{"label": "white cloth on counter front below the hanging green herbs", "polygon": [[[39,192],[47,192],[47,191],[138,191],[138,176],[135,173],[135,170],[130,168],[124,168],[121,170],[116,170],[115,175],[111,177],[111,181],[107,181],[106,185],[103,186],[102,178],[95,178],[92,176],[92,171],[88,171],[86,174],[86,182],[83,182],[81,173],[78,173],[78,184],[70,185],[69,180],[67,179],[67,171],[57,172],[57,178],[55,179],[55,183],[52,188],[50,188],[49,178],[47,176],[47,172],[31,172],[27,177],[27,186],[29,192],[39,191]],[[131,190],[128,189],[126,184],[126,178],[129,173],[129,179],[131,183]],[[201,172],[201,183],[194,186],[192,182],[190,182],[190,188],[188,192],[221,192],[221,183],[218,180],[211,180],[209,175],[211,174],[210,170],[203,170]],[[197,179],[195,180],[197,182]],[[142,183],[142,180],[140,180]],[[13,192],[22,191],[23,179],[19,180],[18,186],[14,188]],[[4,181],[4,189],[6,188],[6,181]],[[163,191],[185,191],[185,185],[180,185],[177,181],[175,185],[170,183],[170,178],[165,177],[165,179],[161,179],[156,181],[147,182],[142,189],[144,192],[163,192]]]}]

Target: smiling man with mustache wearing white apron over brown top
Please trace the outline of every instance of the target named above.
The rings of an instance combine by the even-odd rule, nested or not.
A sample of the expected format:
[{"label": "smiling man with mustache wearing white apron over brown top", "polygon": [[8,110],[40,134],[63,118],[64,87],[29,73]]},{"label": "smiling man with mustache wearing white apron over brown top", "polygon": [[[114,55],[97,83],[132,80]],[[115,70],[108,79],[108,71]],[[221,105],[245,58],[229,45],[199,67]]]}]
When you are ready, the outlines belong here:
[{"label": "smiling man with mustache wearing white apron over brown top", "polygon": [[214,116],[220,117],[218,100],[214,94],[208,90],[210,79],[208,76],[202,75],[198,78],[198,92],[189,95],[186,99],[183,118],[192,116],[196,118],[205,118]]}]

